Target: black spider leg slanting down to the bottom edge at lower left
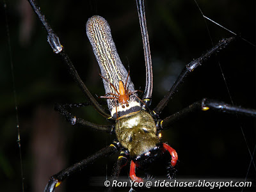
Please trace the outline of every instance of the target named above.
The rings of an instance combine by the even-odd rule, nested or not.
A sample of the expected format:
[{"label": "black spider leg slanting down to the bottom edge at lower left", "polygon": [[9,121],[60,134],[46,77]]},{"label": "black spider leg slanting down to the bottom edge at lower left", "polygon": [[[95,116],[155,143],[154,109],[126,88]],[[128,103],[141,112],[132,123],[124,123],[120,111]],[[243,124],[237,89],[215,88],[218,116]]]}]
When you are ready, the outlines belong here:
[{"label": "black spider leg slanting down to the bottom edge at lower left", "polygon": [[62,170],[61,172],[52,175],[50,178],[47,186],[45,187],[45,192],[52,192],[54,189],[60,185],[60,183],[66,179],[67,177],[70,177],[73,173],[80,172],[84,167],[86,167],[88,164],[93,163],[96,159],[99,159],[100,157],[104,156],[110,156],[112,154],[115,154],[120,149],[120,143],[119,142],[113,142],[108,147],[104,147],[95,154],[93,154],[90,157],[87,157],[86,159],[73,164],[69,168],[66,168],[65,170]]}]

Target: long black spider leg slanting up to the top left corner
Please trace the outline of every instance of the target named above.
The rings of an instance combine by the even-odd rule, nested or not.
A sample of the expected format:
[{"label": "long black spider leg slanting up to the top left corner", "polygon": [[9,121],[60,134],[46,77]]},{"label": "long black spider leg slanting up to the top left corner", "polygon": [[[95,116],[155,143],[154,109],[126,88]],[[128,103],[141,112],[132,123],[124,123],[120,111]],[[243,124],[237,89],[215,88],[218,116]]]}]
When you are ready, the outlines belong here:
[{"label": "long black spider leg slanting up to the top left corner", "polygon": [[88,88],[85,86],[81,78],[79,77],[76,68],[68,58],[68,55],[65,53],[63,50],[63,46],[60,44],[60,39],[59,37],[54,33],[52,30],[51,26],[49,26],[48,22],[46,21],[44,15],[40,12],[40,8],[35,4],[34,0],[28,0],[29,3],[31,4],[33,10],[35,13],[38,15],[38,18],[41,20],[45,30],[47,31],[47,41],[52,47],[52,50],[54,53],[59,54],[62,58],[62,60],[65,61],[68,67],[68,71],[70,75],[73,77],[74,81],[76,81],[77,85],[79,88],[81,88],[82,92],[84,95],[87,97],[87,99],[92,103],[92,105],[97,109],[97,111],[102,115],[105,116],[106,118],[109,118],[110,115],[105,111],[102,106],[100,106],[99,102],[92,96],[92,94],[89,92]]}]

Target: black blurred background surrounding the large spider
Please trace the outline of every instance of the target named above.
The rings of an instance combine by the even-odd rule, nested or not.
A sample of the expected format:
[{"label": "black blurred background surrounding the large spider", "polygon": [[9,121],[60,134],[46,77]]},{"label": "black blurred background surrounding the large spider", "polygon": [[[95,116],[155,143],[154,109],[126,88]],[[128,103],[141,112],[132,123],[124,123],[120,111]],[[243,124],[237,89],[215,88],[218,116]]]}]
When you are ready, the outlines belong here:
[{"label": "black blurred background surrounding the large spider", "polygon": [[[205,16],[255,44],[255,1],[197,2]],[[129,65],[136,89],[144,90],[145,64],[135,1],[62,0],[38,1],[38,4],[93,95],[104,95],[104,88],[85,31],[86,20],[92,15],[108,20],[122,62],[126,67]],[[147,1],[145,6],[154,70],[153,109],[184,65],[211,49],[211,40],[215,45],[221,38],[232,34],[206,20],[208,32],[195,1]],[[21,191],[3,1],[0,12],[0,188],[1,191]],[[28,3],[24,0],[8,1],[7,16],[19,108],[24,188],[25,191],[42,191],[51,175],[109,145],[115,136],[68,125],[54,111],[54,103],[86,102],[86,99],[69,76],[65,64],[53,54],[46,33]],[[234,104],[256,108],[255,46],[243,40],[233,42],[218,56],[196,68],[173,96],[161,118],[204,97],[231,103],[228,92]],[[92,107],[72,111],[86,120],[106,124]],[[179,154],[177,179],[255,181],[255,165],[248,152],[255,150],[255,118],[198,111],[173,124],[172,129],[163,131],[163,141]],[[106,172],[109,176],[116,158],[117,155],[93,163],[65,180],[56,191],[102,191],[104,188],[92,186],[93,182],[101,179],[98,184],[102,186]],[[253,162],[255,164],[255,154]],[[162,179],[165,166],[163,163],[154,164],[150,172],[156,179]],[[120,175],[128,178],[128,172],[129,166]],[[129,188],[124,188],[124,191],[129,191]],[[172,191],[184,191],[184,188]]]}]

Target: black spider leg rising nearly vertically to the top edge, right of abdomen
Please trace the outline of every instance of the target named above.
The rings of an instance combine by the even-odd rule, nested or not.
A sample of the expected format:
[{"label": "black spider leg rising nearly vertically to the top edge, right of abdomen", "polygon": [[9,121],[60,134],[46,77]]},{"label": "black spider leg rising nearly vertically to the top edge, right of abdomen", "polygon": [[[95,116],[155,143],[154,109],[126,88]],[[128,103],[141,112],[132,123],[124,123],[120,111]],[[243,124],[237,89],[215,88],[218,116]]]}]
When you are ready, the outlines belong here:
[{"label": "black spider leg rising nearly vertically to the top edge, right of abdomen", "polygon": [[144,0],[136,0],[138,15],[140,19],[140,29],[141,36],[143,41],[143,49],[145,56],[145,65],[146,65],[146,86],[145,92],[142,97],[143,100],[143,108],[146,106],[149,107],[152,101],[152,90],[153,90],[153,72],[152,72],[152,61],[150,55],[150,46],[148,41],[148,30],[147,30],[147,22],[145,15],[145,6]]}]

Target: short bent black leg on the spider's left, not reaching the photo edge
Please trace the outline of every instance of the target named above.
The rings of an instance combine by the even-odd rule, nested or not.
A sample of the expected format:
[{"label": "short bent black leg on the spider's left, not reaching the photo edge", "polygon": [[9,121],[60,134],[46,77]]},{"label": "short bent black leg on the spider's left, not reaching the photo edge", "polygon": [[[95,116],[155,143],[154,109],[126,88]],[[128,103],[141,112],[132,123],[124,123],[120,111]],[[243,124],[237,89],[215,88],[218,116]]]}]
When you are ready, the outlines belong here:
[{"label": "short bent black leg on the spider's left, not reaching the photo edge", "polygon": [[69,113],[67,111],[67,109],[65,109],[65,105],[62,106],[61,104],[56,104],[56,106],[54,106],[54,109],[58,112],[61,113],[61,115],[63,115],[67,122],[69,122],[72,125],[81,125],[84,127],[90,127],[92,129],[95,129],[97,131],[104,131],[104,132],[113,132],[114,129],[114,125],[98,125],[98,124],[93,124],[92,122],[88,122],[86,120],[83,120],[83,118],[76,118],[76,116],[72,115],[71,113]]}]

